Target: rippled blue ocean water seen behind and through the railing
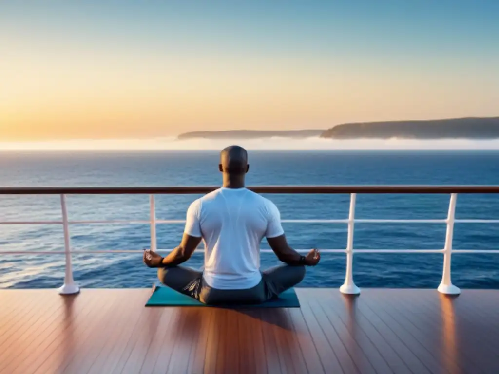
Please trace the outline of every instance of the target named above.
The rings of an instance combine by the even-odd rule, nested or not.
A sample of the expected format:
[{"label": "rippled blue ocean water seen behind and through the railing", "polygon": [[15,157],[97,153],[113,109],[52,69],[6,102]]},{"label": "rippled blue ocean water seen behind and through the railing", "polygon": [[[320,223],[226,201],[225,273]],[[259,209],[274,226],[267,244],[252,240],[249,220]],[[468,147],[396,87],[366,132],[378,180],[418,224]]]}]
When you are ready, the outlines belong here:
[{"label": "rippled blue ocean water seen behind and through the railing", "polygon": [[[1,186],[196,186],[220,185],[218,152],[4,152]],[[248,185],[499,185],[499,151],[336,150],[250,152]],[[158,219],[184,219],[198,195],[158,195]],[[335,219],[348,216],[349,196],[266,195],[283,219]],[[147,195],[70,195],[70,220],[148,219]],[[443,219],[449,195],[357,196],[356,218]],[[458,195],[457,218],[499,219],[498,195]],[[58,196],[0,196],[0,220],[60,220]],[[64,249],[60,225],[0,226],[1,250]],[[454,248],[499,249],[499,224],[456,224]],[[341,249],[345,224],[287,223],[289,243],[299,249]],[[154,269],[142,263],[149,247],[148,225],[71,225],[74,249],[135,249],[137,253],[73,255],[75,281],[81,287],[150,287]],[[182,224],[158,225],[158,247],[174,248]],[[445,224],[376,223],[355,225],[356,249],[441,249]],[[262,248],[268,248],[265,242]],[[262,254],[262,267],[278,263]],[[200,247],[187,265],[199,267]],[[499,288],[499,255],[455,254],[453,283],[462,288]],[[374,254],[354,256],[359,287],[437,288],[441,254]],[[345,255],[322,255],[308,268],[305,287],[339,287]],[[0,255],[0,288],[58,287],[64,277],[63,255]]]}]

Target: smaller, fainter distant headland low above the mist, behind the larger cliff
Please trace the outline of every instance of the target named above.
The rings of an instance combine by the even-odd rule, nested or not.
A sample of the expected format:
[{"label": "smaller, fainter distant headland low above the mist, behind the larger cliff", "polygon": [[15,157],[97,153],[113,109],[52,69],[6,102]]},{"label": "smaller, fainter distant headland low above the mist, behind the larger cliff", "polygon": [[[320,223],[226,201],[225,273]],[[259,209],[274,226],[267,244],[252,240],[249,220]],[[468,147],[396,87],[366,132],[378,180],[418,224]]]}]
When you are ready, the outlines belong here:
[{"label": "smaller, fainter distant headland low above the mist, behind the larger cliff", "polygon": [[318,137],[324,130],[229,130],[229,131],[195,131],[178,136],[178,139],[258,139],[258,138],[310,138]]}]

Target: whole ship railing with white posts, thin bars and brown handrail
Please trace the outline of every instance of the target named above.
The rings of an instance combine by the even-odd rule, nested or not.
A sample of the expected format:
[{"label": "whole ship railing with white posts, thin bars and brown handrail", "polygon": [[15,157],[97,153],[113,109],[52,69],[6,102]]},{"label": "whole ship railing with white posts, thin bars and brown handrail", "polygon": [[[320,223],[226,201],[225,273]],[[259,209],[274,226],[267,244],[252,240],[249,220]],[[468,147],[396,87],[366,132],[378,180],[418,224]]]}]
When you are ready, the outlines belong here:
[{"label": "whole ship railing with white posts, thin bars and brown handrail", "polygon": [[[140,253],[142,250],[72,250],[70,225],[76,224],[147,224],[150,226],[151,244],[153,251],[169,252],[171,249],[158,249],[156,242],[156,226],[158,224],[181,224],[185,220],[165,220],[156,217],[156,194],[204,194],[218,187],[3,187],[0,195],[59,195],[62,220],[57,221],[0,221],[0,225],[62,225],[64,231],[64,251],[0,251],[0,254],[30,254],[30,255],[65,255],[64,283],[58,289],[60,294],[75,294],[80,288],[74,282],[71,264],[72,253]],[[346,270],[345,281],[340,287],[344,294],[359,294],[360,289],[353,280],[354,253],[442,253],[444,266],[442,281],[438,291],[443,294],[457,295],[461,290],[452,284],[451,257],[455,253],[495,253],[497,249],[454,249],[453,234],[456,223],[499,223],[499,219],[456,219],[456,203],[461,193],[499,193],[499,186],[256,186],[249,187],[257,193],[274,194],[350,194],[350,209],[346,219],[283,219],[283,223],[343,223],[347,224],[348,234],[344,249],[320,249],[321,253],[345,253]],[[355,201],[357,194],[450,194],[449,210],[445,219],[358,219],[355,218]],[[66,196],[72,194],[148,194],[150,201],[150,218],[148,220],[69,220]],[[442,249],[355,249],[353,235],[355,223],[440,223],[447,225],[445,243]],[[309,249],[297,249],[307,252]],[[262,252],[271,250],[262,249]]]}]

